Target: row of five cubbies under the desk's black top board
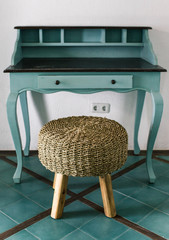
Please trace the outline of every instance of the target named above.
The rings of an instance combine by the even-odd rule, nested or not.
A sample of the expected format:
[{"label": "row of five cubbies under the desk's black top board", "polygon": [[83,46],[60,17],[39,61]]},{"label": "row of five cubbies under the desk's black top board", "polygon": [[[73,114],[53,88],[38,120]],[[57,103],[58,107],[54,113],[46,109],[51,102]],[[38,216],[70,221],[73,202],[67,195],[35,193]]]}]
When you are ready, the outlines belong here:
[{"label": "row of five cubbies under the desk's black top board", "polygon": [[144,46],[150,27],[15,27],[21,46]]}]

